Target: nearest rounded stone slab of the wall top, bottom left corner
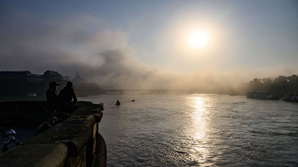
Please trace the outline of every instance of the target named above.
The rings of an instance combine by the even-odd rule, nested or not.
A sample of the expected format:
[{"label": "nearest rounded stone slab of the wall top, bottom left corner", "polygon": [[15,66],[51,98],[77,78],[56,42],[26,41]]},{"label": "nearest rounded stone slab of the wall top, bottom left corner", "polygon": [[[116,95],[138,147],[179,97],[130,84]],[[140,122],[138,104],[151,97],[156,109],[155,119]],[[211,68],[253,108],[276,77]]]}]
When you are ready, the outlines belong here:
[{"label": "nearest rounded stone slab of the wall top, bottom left corner", "polygon": [[63,167],[68,158],[63,144],[25,144],[1,155],[0,167]]}]

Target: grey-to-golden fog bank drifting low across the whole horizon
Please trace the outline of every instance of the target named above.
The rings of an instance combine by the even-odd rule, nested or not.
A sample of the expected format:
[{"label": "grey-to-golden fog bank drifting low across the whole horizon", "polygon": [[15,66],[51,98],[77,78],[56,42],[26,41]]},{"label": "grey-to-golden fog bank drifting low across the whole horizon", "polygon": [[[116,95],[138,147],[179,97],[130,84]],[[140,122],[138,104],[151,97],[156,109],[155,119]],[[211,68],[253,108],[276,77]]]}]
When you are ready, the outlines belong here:
[{"label": "grey-to-golden fog bank drifting low across the whole horizon", "polygon": [[191,72],[148,65],[128,45],[129,34],[109,30],[91,15],[43,20],[21,11],[6,13],[0,21],[5,23],[0,27],[0,70],[43,74],[50,69],[71,78],[78,71],[103,89],[215,89],[298,73],[286,64],[255,69],[243,64],[229,71],[210,64]]}]

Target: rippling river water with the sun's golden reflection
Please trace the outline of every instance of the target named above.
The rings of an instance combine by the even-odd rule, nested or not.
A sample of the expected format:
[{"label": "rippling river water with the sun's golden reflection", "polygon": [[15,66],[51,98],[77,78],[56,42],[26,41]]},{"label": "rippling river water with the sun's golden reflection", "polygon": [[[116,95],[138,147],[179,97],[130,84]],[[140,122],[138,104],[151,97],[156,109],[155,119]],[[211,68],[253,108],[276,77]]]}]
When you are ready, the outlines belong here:
[{"label": "rippling river water with the sun's golden reflection", "polygon": [[104,103],[108,167],[298,166],[298,103],[124,93],[78,98]]}]

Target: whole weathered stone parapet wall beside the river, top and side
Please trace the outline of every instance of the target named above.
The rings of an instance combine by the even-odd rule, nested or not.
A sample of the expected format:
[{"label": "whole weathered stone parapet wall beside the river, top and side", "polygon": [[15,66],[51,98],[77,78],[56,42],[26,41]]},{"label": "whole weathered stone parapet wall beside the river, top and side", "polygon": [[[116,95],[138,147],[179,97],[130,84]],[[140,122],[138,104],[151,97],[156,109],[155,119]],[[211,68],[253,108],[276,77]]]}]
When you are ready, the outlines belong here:
[{"label": "whole weathered stone parapet wall beside the river, top and side", "polygon": [[97,104],[77,104],[63,122],[0,155],[0,167],[106,166],[105,141],[98,133],[103,113]]}]

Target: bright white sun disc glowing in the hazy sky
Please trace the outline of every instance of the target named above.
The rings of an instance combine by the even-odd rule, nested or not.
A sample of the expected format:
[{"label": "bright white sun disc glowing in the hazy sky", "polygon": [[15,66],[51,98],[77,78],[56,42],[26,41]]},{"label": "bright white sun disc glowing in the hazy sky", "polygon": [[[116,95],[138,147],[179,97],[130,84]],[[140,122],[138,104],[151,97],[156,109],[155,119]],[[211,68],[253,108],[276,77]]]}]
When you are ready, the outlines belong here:
[{"label": "bright white sun disc glowing in the hazy sky", "polygon": [[209,42],[207,33],[203,31],[196,31],[190,33],[188,36],[188,45],[193,49],[201,49],[205,47]]}]

